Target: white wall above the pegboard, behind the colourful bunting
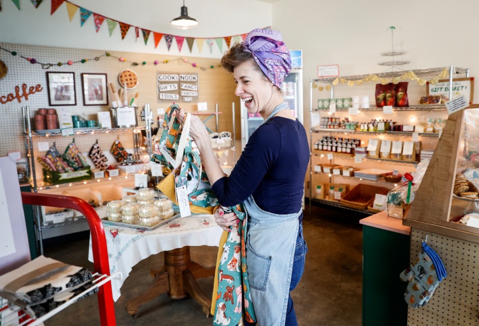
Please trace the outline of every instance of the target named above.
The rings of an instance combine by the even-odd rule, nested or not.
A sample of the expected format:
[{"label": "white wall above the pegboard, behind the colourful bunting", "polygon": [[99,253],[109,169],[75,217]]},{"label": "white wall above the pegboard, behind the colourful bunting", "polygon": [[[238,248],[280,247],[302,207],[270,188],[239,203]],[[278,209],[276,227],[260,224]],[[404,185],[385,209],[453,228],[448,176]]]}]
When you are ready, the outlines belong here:
[{"label": "white wall above the pegboard, behind the colourful bunting", "polygon": [[[199,21],[191,30],[181,30],[170,25],[180,15],[182,0],[73,0],[74,4],[106,17],[152,31],[185,36],[213,38],[249,32],[253,28],[271,25],[271,4],[256,0],[187,0],[188,14]],[[215,43],[213,54],[205,43],[201,53],[195,44],[190,53],[186,40],[181,53],[173,40],[170,51],[164,39],[155,49],[153,34],[145,46],[143,36],[136,40],[135,29],[130,27],[124,40],[117,25],[109,36],[106,21],[95,31],[93,15],[80,27],[79,10],[71,23],[66,4],[63,3],[50,16],[51,1],[43,1],[37,9],[28,0],[20,0],[20,11],[13,2],[3,0],[0,12],[0,42],[49,45],[87,49],[117,50],[142,53],[160,53],[184,56],[221,57]],[[223,51],[226,50],[226,43]],[[1,53],[0,53],[1,54]],[[0,55],[1,58],[1,55]]]}]

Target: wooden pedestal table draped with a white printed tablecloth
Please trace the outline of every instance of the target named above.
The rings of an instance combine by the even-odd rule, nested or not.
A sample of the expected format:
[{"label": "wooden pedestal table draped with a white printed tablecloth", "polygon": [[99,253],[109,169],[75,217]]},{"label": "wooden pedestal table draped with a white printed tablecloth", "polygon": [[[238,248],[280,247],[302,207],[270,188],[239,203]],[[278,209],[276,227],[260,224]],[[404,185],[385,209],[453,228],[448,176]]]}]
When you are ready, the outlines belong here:
[{"label": "wooden pedestal table draped with a white printed tablecloth", "polygon": [[[211,297],[201,293],[196,279],[212,276],[215,267],[204,268],[190,259],[190,246],[218,246],[223,230],[212,215],[178,218],[155,230],[145,231],[104,224],[108,246],[110,273],[122,272],[122,280],[112,280],[113,300],[120,297],[120,288],[133,266],[160,252],[165,253],[165,266],[152,271],[153,286],[127,304],[127,311],[135,316],[139,306],[168,292],[172,299],[183,299],[189,293],[209,315]],[[90,252],[88,259],[93,261]]]}]

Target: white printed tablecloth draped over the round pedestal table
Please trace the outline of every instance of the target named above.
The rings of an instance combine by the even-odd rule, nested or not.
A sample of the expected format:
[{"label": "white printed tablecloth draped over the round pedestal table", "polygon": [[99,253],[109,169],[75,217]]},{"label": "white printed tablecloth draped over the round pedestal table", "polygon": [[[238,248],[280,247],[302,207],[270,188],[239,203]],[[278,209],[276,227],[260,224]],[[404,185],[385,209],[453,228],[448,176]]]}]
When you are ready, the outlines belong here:
[{"label": "white printed tablecloth draped over the round pedestal table", "polygon": [[[141,260],[162,251],[185,246],[218,246],[223,232],[215,223],[213,215],[207,214],[177,218],[152,231],[108,224],[103,226],[108,246],[110,273],[123,274],[122,280],[111,281],[114,301],[120,298],[120,288],[133,266]],[[88,260],[93,262],[91,237]]]}]

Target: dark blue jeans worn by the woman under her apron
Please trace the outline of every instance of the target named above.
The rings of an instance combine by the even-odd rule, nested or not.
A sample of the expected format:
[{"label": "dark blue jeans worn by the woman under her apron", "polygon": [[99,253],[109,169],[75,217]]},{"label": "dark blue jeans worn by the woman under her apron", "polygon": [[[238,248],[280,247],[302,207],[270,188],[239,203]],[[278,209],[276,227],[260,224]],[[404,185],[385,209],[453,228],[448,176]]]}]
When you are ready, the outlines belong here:
[{"label": "dark blue jeans worn by the woman under her apron", "polygon": [[[301,276],[304,272],[304,262],[306,259],[306,253],[308,252],[308,246],[303,237],[303,226],[299,225],[298,235],[296,238],[296,248],[294,249],[294,262],[293,271],[291,274],[291,283],[289,285],[289,292],[293,291],[299,283]],[[253,303],[254,304],[254,303]],[[256,323],[248,323],[243,320],[244,326],[254,326]],[[294,312],[293,300],[291,294],[288,296],[288,307],[286,309],[286,323],[285,326],[297,326],[296,313]]]}]

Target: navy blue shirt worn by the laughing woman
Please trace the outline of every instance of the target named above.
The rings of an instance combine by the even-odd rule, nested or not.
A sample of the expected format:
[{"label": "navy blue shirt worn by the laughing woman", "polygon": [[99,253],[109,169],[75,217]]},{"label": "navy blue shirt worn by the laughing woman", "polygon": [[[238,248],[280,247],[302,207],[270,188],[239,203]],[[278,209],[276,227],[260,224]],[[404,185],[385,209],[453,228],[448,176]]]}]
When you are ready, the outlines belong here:
[{"label": "navy blue shirt worn by the laughing woman", "polygon": [[266,212],[297,213],[308,162],[303,125],[297,119],[273,117],[252,133],[231,175],[212,188],[222,206],[238,205],[252,194]]}]

